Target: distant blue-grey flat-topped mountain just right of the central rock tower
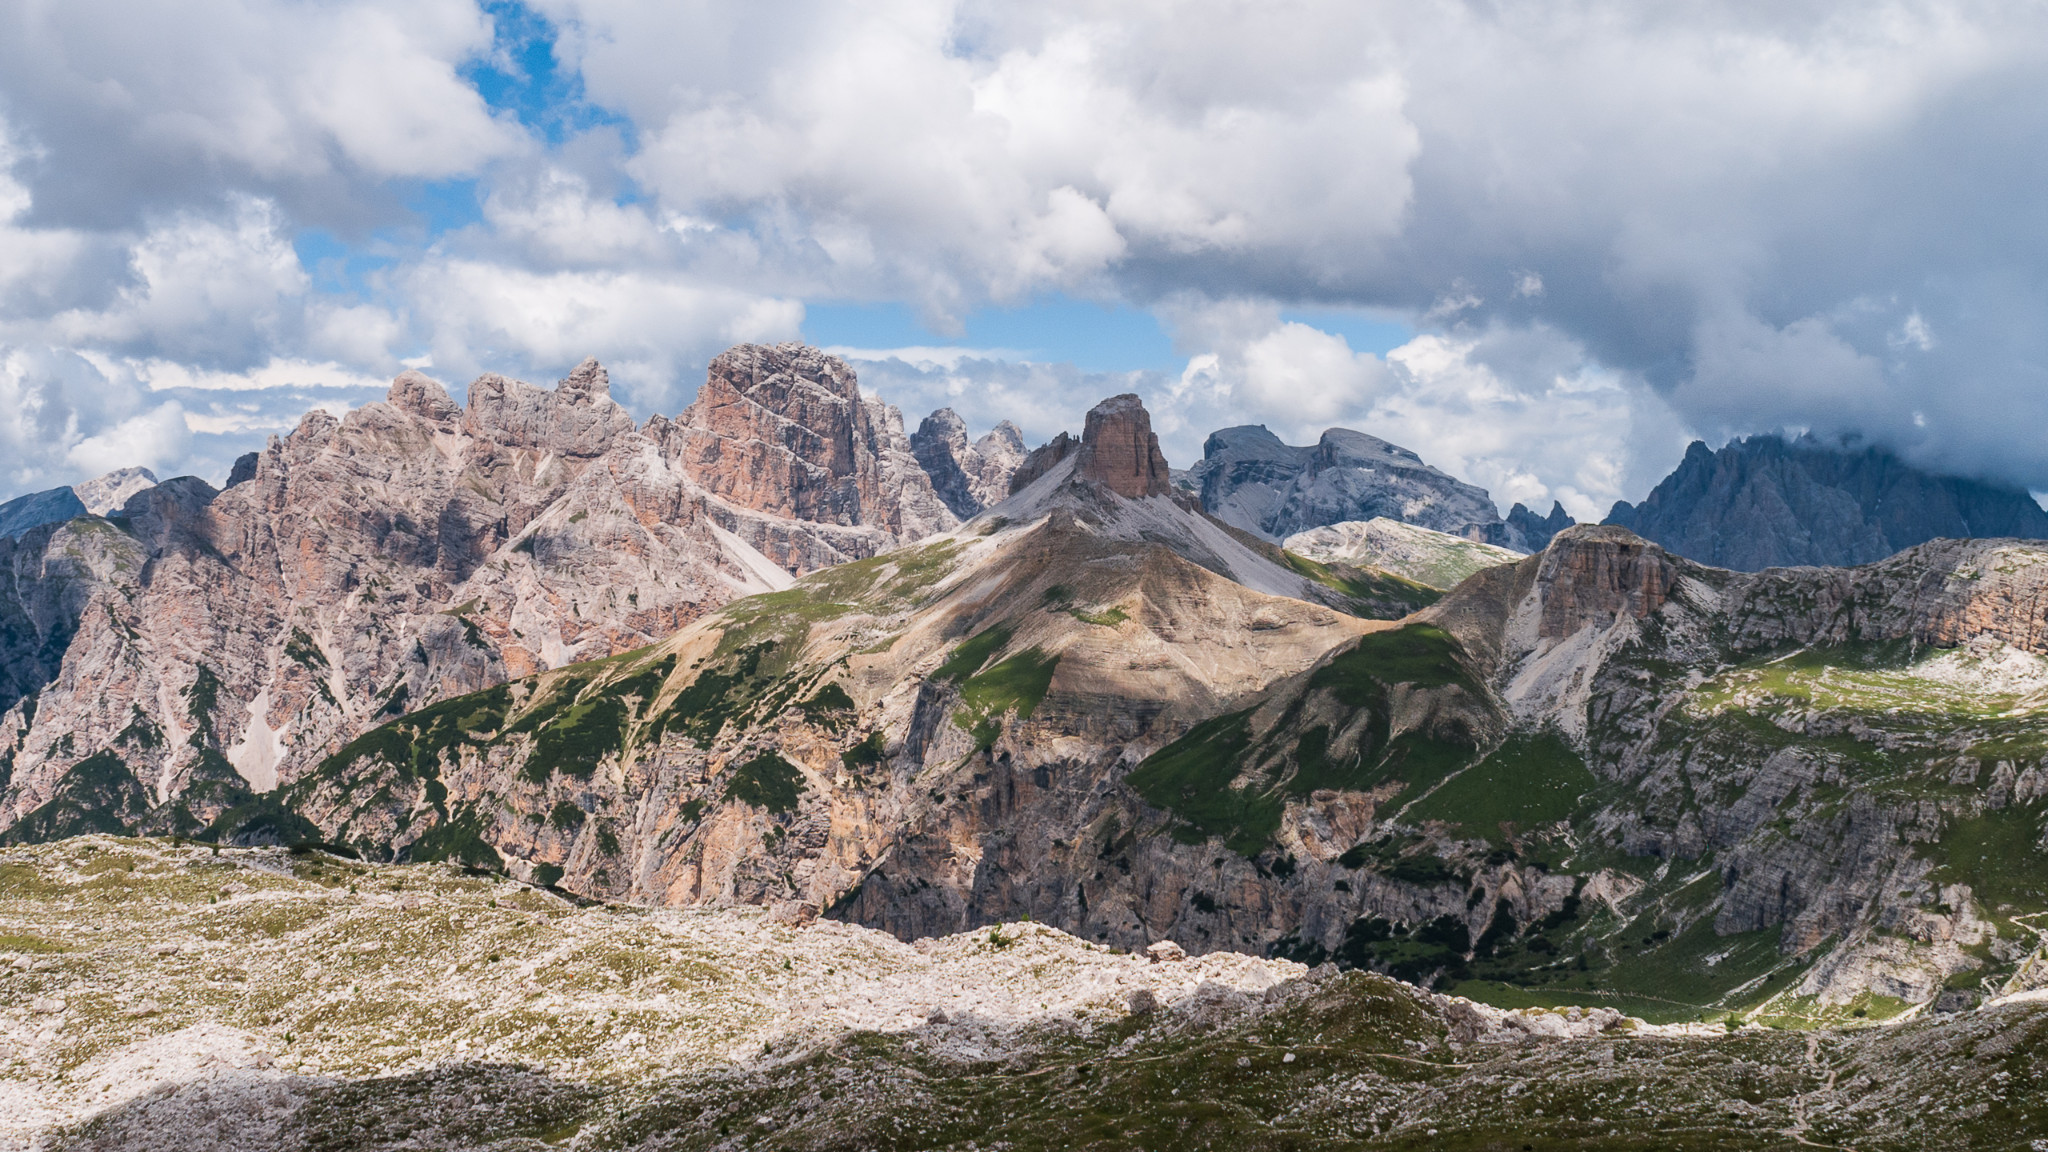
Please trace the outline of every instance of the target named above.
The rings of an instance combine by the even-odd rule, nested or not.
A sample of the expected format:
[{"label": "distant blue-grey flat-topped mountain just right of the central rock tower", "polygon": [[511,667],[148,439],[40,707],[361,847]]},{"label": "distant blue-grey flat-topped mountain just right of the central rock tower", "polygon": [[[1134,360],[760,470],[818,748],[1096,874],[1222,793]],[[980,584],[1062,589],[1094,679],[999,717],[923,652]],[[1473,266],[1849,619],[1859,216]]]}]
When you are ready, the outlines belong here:
[{"label": "distant blue-grey flat-topped mountain just right of the central rock tower", "polygon": [[1202,510],[1270,541],[1386,517],[1483,543],[1513,545],[1485,488],[1438,471],[1401,445],[1331,428],[1294,447],[1262,424],[1210,433],[1188,469]]}]

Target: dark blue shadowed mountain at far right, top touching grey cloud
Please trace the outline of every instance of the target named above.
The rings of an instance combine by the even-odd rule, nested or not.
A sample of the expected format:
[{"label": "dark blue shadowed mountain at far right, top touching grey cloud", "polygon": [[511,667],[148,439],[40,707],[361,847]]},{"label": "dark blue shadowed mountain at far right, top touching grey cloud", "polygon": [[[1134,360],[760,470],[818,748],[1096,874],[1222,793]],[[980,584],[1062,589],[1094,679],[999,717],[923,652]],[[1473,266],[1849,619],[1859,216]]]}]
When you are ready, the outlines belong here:
[{"label": "dark blue shadowed mountain at far right, top touching grey cloud", "polygon": [[2048,512],[2017,488],[1810,437],[1751,437],[1720,451],[1694,441],[1649,498],[1616,504],[1606,523],[1739,572],[1870,564],[1937,537],[2048,539]]}]

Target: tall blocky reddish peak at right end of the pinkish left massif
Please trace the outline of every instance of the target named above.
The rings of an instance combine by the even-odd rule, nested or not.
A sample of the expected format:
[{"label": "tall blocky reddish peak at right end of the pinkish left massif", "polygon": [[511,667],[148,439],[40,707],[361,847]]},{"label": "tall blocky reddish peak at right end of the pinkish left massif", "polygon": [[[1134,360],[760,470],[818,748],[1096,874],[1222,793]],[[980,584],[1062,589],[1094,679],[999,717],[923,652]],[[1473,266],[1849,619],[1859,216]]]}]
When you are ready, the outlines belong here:
[{"label": "tall blocky reddish peak at right end of the pinkish left massif", "polygon": [[[901,412],[862,400],[844,361],[803,344],[719,355],[672,443],[684,474],[729,508],[725,527],[795,572],[958,523],[918,465]],[[805,547],[762,515],[850,531]]]}]

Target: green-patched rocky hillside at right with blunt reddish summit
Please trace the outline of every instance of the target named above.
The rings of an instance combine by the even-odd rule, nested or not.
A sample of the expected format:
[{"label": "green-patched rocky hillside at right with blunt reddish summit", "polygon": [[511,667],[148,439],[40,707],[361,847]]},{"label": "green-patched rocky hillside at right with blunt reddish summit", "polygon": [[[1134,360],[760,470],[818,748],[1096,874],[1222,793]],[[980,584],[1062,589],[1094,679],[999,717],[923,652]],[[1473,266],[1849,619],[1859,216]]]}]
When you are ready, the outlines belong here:
[{"label": "green-patched rocky hillside at right with blunt reddish summit", "polygon": [[[1300,959],[1649,1019],[1966,1006],[2048,978],[2044,578],[2021,541],[1745,576],[1569,529],[1128,781],[1284,861]],[[1305,779],[1296,820],[1376,801],[1341,853],[1272,830]]]}]

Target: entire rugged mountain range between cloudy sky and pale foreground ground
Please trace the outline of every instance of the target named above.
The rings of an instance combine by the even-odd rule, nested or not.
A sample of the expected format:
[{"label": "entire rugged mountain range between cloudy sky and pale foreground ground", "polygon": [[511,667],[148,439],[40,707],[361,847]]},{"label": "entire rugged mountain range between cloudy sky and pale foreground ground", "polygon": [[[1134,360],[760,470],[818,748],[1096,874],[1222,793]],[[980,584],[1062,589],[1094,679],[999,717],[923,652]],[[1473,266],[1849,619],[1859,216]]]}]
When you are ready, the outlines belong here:
[{"label": "entire rugged mountain range between cloudy sky and pale foreground ground", "polygon": [[[2042,980],[2048,547],[1737,572],[1341,428],[1176,476],[1137,396],[1034,451],[903,428],[801,344],[643,424],[594,361],[461,408],[406,373],[219,492],[0,539],[0,838],[1028,916],[1645,1019]],[[1665,492],[1718,488],[1679,476],[1642,508],[1692,523]]]}]

